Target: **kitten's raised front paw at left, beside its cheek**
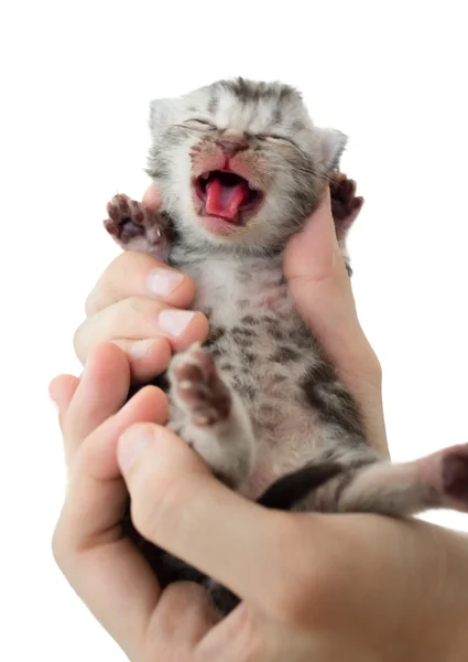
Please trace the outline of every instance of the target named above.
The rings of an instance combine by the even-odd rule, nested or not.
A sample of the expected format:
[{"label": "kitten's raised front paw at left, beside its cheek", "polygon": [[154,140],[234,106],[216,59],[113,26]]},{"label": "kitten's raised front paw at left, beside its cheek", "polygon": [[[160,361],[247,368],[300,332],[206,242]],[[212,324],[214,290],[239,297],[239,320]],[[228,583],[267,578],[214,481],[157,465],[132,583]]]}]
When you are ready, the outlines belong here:
[{"label": "kitten's raised front paw at left, beside its cheek", "polygon": [[107,232],[124,250],[149,253],[164,259],[166,227],[162,216],[128,195],[118,194],[107,204]]}]

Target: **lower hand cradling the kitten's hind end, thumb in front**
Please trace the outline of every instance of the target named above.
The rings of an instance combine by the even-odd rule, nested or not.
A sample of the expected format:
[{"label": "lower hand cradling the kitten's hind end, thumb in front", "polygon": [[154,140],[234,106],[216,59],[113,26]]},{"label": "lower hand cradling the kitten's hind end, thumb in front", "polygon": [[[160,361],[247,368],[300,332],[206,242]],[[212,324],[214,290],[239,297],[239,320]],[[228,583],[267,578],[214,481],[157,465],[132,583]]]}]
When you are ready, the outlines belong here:
[{"label": "lower hand cradling the kitten's hind end, thumb in front", "polygon": [[[164,427],[157,388],[122,407],[129,383],[126,355],[104,344],[80,380],[51,384],[68,468],[55,558],[129,660],[464,660],[466,538],[417,521],[264,510]],[[225,620],[200,586],[161,591],[122,538],[127,489],[142,535],[242,598]]]}]

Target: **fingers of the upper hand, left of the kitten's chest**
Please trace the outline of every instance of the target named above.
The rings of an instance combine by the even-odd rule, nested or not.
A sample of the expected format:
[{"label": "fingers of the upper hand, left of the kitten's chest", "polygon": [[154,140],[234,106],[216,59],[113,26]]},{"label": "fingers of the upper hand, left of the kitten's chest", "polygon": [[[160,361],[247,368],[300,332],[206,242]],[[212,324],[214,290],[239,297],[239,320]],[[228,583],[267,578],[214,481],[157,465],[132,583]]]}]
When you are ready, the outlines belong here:
[{"label": "fingers of the upper hand, left of the kitten's chest", "polygon": [[[157,209],[157,193],[149,189],[144,202]],[[189,276],[143,253],[120,254],[86,300],[76,355],[85,365],[96,344],[111,341],[127,353],[132,380],[148,382],[167,367],[174,351],[206,339],[206,317],[187,310],[194,295]]]}]

